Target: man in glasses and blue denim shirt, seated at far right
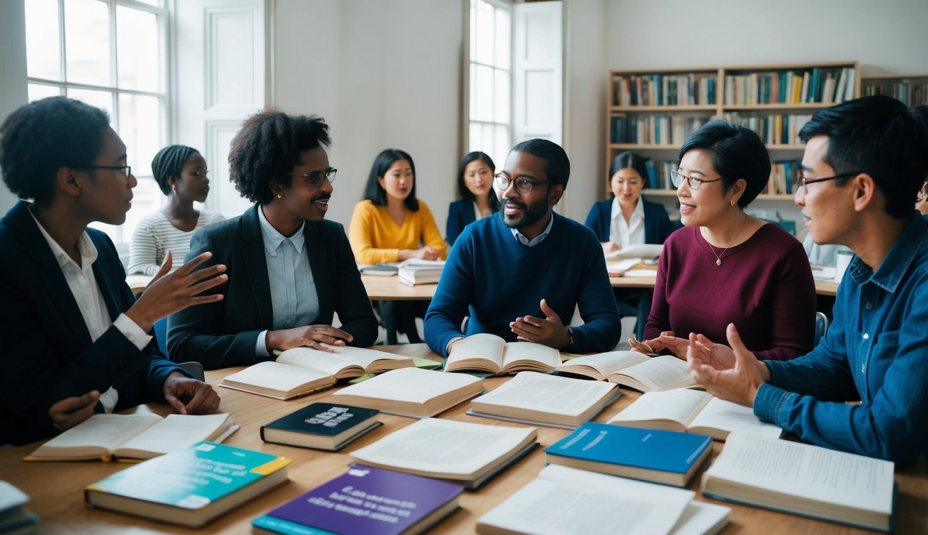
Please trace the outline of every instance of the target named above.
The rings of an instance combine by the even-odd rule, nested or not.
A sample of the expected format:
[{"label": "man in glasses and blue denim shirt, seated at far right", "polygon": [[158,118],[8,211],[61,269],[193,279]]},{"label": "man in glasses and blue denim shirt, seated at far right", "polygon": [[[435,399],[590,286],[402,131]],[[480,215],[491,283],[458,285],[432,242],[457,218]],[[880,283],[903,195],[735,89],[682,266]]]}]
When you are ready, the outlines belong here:
[{"label": "man in glasses and blue denim shirt, seated at far right", "polygon": [[911,201],[928,174],[926,133],[898,100],[868,97],[817,111],[800,136],[806,227],[856,254],[834,321],[785,362],[754,359],[731,325],[733,351],[690,334],[690,372],[813,444],[914,463],[928,448],[928,222]]}]

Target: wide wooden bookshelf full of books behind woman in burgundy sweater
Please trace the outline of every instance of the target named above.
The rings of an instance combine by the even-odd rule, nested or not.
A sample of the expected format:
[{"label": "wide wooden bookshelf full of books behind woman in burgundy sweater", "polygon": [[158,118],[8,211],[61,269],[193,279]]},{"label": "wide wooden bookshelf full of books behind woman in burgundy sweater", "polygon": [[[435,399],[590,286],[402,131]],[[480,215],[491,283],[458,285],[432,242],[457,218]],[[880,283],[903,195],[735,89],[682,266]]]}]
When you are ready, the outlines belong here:
[{"label": "wide wooden bookshelf full of books behind woman in burgundy sweater", "polygon": [[610,71],[606,169],[619,152],[636,151],[651,158],[655,172],[645,193],[676,197],[667,175],[683,142],[724,118],[757,132],[780,163],[757,199],[792,202],[804,149],[799,130],[815,111],[860,96],[859,72],[857,61]]}]

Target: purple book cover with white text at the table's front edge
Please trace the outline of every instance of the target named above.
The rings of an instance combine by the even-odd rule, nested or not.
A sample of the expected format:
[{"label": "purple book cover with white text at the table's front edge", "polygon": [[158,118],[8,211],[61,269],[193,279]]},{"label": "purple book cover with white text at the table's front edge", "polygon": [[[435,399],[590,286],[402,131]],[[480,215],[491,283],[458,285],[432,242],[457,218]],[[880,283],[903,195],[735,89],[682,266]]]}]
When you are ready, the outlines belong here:
[{"label": "purple book cover with white text at the table's front edge", "polygon": [[336,533],[402,533],[455,500],[460,485],[355,465],[267,515]]}]

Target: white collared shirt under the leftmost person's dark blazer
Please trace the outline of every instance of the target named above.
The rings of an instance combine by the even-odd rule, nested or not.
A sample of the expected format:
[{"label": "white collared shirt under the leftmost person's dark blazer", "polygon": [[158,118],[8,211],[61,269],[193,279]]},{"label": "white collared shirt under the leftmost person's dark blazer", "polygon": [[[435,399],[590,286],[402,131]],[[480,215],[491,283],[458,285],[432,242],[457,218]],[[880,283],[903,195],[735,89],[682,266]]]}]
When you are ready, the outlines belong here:
[{"label": "white collared shirt under the leftmost person's dark blazer", "polygon": [[[30,212],[30,215],[32,215],[32,212]],[[32,220],[35,221],[36,227],[42,232],[48,247],[52,250],[52,254],[55,255],[58,267],[61,267],[61,274],[68,283],[68,288],[74,296],[74,302],[77,303],[77,307],[81,310],[87,332],[90,333],[90,340],[96,342],[97,338],[106,333],[110,329],[110,325],[112,325],[135,347],[143,349],[148,346],[151,336],[142,331],[142,328],[135,321],[130,320],[128,316],[120,314],[115,321],[110,320],[110,312],[107,310],[107,304],[103,300],[103,293],[100,292],[100,286],[94,276],[97,247],[94,246],[93,241],[90,241],[87,232],[82,232],[81,237],[77,239],[77,250],[81,254],[81,265],[78,266],[77,262],[74,262],[74,259],[71,258],[71,255],[67,254],[58,244],[58,241],[55,241],[48,234],[42,223],[39,223],[39,220],[35,218],[35,215],[32,215]],[[119,402],[119,392],[112,386],[106,392],[100,394],[100,404],[103,406],[104,411],[112,412],[117,402]]]}]

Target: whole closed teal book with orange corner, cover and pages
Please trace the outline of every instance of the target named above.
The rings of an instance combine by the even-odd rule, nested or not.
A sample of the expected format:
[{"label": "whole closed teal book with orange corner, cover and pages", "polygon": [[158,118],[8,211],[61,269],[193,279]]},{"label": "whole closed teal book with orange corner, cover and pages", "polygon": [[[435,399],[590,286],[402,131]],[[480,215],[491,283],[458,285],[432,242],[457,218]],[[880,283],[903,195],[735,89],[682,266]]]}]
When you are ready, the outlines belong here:
[{"label": "whole closed teal book with orange corner, cover and pages", "polygon": [[200,442],[84,489],[88,505],[199,528],[287,480],[290,459]]}]

